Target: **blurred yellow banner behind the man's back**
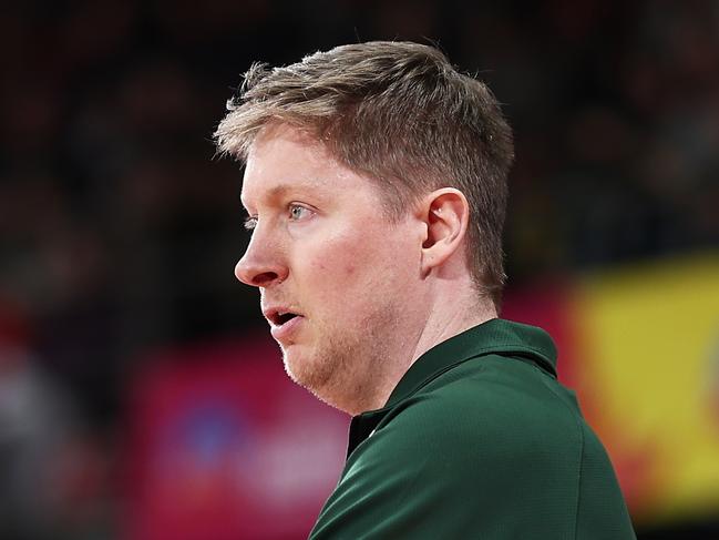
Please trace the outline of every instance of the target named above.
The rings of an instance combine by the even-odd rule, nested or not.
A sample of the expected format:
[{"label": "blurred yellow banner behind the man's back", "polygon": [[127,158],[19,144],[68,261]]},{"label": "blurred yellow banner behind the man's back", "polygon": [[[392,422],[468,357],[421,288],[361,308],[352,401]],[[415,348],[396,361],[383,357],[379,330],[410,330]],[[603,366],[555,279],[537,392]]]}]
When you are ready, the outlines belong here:
[{"label": "blurred yellow banner behind the man's back", "polygon": [[635,519],[718,512],[719,256],[595,274],[571,306],[573,383]]}]

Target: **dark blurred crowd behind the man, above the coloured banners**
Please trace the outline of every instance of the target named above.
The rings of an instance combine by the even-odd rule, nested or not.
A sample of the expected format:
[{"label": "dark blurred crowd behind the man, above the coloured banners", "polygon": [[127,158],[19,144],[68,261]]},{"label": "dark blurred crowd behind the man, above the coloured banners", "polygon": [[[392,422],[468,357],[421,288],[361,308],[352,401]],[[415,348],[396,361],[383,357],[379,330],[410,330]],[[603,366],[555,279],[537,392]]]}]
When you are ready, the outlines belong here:
[{"label": "dark blurred crowd behind the man, above the coloured banners", "polygon": [[112,528],[133,359],[259,323],[225,101],[255,60],[372,39],[434,42],[505,104],[511,286],[719,245],[717,1],[3,6],[0,530]]}]

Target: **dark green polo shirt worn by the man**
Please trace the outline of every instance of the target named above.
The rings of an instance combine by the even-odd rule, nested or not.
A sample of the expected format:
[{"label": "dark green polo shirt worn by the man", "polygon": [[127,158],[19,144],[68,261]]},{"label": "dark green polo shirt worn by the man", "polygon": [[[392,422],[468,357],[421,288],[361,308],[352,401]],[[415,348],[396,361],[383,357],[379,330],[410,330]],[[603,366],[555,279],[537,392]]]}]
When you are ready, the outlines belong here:
[{"label": "dark green polo shirt worn by the man", "polygon": [[635,539],[614,469],[542,329],[492,319],[439,344],[352,418],[310,539]]}]

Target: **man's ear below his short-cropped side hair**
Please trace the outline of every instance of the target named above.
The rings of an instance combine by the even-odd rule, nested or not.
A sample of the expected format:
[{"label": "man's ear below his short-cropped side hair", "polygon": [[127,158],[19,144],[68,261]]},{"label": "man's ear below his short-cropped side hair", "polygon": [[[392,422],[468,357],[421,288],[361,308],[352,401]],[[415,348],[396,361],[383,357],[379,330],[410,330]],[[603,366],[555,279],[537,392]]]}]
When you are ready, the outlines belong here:
[{"label": "man's ear below his short-cropped side hair", "polygon": [[427,225],[422,243],[422,274],[444,264],[462,246],[470,221],[470,204],[454,187],[442,187],[430,193],[420,207]]}]

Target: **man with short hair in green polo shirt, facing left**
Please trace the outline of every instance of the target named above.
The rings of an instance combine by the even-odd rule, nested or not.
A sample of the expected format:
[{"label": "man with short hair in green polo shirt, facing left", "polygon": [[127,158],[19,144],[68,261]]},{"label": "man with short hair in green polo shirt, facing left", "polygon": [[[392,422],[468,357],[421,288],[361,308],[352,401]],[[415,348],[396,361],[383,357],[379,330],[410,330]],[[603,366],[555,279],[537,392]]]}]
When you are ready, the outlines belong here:
[{"label": "man with short hair in green polo shirt, facing left", "polygon": [[256,64],[228,110],[236,275],[289,376],[353,416],[310,538],[634,538],[549,336],[497,318],[513,144],[487,88],[370,42]]}]

